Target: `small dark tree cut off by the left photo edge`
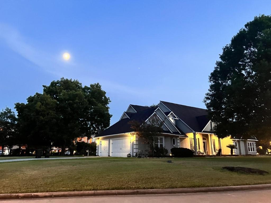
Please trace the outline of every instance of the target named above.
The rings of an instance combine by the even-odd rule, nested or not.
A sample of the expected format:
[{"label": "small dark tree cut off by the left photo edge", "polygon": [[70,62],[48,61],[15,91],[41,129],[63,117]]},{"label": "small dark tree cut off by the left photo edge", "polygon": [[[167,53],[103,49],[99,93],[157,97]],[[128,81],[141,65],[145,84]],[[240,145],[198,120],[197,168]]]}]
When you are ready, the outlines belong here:
[{"label": "small dark tree cut off by the left photo edge", "polygon": [[[17,117],[15,113],[8,107],[2,109],[0,112],[0,146],[2,150],[8,147],[9,154],[11,154],[11,149],[16,145],[16,128]],[[2,155],[4,155],[2,151]]]}]

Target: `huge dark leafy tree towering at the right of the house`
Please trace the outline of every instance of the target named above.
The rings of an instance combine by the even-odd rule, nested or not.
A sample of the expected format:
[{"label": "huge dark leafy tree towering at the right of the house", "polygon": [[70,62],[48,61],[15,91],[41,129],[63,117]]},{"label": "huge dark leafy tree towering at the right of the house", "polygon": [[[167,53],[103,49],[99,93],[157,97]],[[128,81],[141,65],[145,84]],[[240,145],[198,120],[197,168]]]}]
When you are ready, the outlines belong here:
[{"label": "huge dark leafy tree towering at the right of the house", "polygon": [[223,48],[205,104],[218,137],[270,136],[271,17],[248,22]]}]

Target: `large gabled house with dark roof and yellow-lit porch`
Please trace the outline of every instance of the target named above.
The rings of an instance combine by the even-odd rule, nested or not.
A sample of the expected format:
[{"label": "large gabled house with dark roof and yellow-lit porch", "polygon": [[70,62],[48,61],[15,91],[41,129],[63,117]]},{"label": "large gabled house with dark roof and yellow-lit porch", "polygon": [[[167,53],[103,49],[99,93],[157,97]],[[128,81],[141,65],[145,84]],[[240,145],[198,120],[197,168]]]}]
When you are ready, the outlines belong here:
[{"label": "large gabled house with dark roof and yellow-lit porch", "polygon": [[160,101],[157,107],[130,104],[117,123],[94,137],[96,155],[126,157],[128,153],[134,156],[138,150],[144,153],[148,146],[138,139],[129,122],[149,122],[153,116],[164,121],[163,134],[155,144],[167,148],[169,153],[173,147],[183,147],[193,150],[195,155],[198,152],[215,155],[218,149],[227,155],[230,149],[226,146],[234,144],[237,146],[235,154],[257,154],[255,137],[248,140],[233,136],[218,139],[214,135],[216,124],[208,120],[207,114],[206,109],[164,101]]}]

